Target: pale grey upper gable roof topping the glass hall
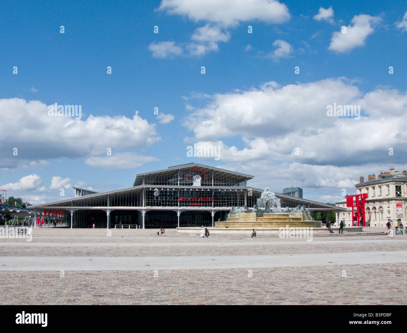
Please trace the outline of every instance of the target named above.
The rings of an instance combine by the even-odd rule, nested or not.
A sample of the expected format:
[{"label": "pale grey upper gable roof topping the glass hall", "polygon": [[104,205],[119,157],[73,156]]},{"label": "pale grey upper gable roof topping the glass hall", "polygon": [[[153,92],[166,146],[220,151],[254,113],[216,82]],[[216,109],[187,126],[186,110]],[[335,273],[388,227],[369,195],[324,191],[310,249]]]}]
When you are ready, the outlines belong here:
[{"label": "pale grey upper gable roof topping the glass hall", "polygon": [[251,176],[251,175],[246,175],[244,173],[229,171],[229,170],[217,168],[214,166],[208,166],[208,165],[204,165],[204,164],[200,164],[200,163],[186,163],[186,164],[169,166],[167,169],[138,173],[136,176],[136,180],[134,180],[133,186],[141,185],[144,175],[158,175],[159,176],[159,175],[163,175],[165,173],[173,173],[174,171],[177,171],[177,170],[192,169],[195,167],[198,167],[200,170],[202,170],[204,172],[214,171],[214,175],[222,175],[222,176],[228,175],[231,178],[238,178],[238,179],[242,179],[242,180],[243,179],[249,180],[249,179],[254,178],[254,176]]}]

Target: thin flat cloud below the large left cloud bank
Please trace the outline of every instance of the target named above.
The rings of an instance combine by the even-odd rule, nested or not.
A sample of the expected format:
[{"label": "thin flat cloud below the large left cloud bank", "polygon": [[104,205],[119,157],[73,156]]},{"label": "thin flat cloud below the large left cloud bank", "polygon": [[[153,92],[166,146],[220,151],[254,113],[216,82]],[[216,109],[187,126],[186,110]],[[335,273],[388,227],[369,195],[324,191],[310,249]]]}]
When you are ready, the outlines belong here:
[{"label": "thin flat cloud below the large left cloud bank", "polygon": [[134,169],[149,162],[159,162],[160,159],[141,155],[139,153],[112,153],[110,156],[92,156],[85,164],[103,169]]}]

